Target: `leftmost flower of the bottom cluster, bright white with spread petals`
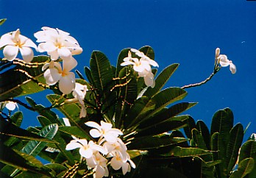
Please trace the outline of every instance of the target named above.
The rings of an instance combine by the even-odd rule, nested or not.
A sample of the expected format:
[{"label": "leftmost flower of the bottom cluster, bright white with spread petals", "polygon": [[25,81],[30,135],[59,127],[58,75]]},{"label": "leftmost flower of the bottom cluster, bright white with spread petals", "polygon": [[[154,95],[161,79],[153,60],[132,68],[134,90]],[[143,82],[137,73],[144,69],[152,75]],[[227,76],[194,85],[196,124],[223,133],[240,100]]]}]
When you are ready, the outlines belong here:
[{"label": "leftmost flower of the bottom cluster, bright white with spread petals", "polygon": [[107,151],[102,146],[99,146],[96,143],[94,143],[93,140],[90,140],[88,143],[86,139],[75,139],[71,140],[71,142],[68,143],[65,147],[66,150],[78,148],[79,154],[81,154],[81,156],[85,158],[92,157],[94,151],[99,151],[102,152],[102,154],[107,154]]}]

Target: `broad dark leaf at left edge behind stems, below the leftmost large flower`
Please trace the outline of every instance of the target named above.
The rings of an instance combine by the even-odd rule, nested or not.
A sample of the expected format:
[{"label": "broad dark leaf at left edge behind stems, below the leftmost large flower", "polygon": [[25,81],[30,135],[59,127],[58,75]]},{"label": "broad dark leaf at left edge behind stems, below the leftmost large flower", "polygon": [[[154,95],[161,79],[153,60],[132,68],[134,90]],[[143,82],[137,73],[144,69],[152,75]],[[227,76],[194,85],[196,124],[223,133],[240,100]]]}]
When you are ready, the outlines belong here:
[{"label": "broad dark leaf at left edge behind stems, below the leftmost large flower", "polygon": [[[31,63],[23,60],[0,62],[0,99],[14,98],[44,90],[38,82],[44,83],[42,67],[49,62],[49,57],[34,57]],[[12,76],[12,77],[10,77]],[[38,82],[37,82],[38,81]]]}]

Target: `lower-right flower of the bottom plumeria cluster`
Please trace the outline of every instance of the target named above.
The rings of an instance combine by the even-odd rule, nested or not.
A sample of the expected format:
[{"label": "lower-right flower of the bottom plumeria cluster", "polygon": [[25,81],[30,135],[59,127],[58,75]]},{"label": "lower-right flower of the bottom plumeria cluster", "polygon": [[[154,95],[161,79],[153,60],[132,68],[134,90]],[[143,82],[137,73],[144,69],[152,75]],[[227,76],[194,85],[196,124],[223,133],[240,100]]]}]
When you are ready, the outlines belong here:
[{"label": "lower-right flower of the bottom plumeria cluster", "polygon": [[[129,163],[127,163],[127,161]],[[127,174],[127,172],[131,171],[131,166],[132,168],[136,167],[135,163],[133,163],[133,161],[130,160],[128,153],[125,157],[123,157],[122,154],[115,154],[115,156],[110,160],[110,165],[115,170],[122,168],[122,172],[124,175]]]}]

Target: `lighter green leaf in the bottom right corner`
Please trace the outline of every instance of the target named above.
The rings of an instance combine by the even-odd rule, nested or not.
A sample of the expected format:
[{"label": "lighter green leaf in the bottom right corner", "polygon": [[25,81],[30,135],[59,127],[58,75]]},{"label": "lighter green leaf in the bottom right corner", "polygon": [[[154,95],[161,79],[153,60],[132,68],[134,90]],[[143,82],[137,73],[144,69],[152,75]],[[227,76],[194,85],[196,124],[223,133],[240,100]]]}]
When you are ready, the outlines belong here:
[{"label": "lighter green leaf in the bottom right corner", "polygon": [[231,174],[230,178],[243,178],[252,171],[252,168],[255,166],[255,161],[252,157],[242,160],[238,164],[238,171],[235,171]]}]

